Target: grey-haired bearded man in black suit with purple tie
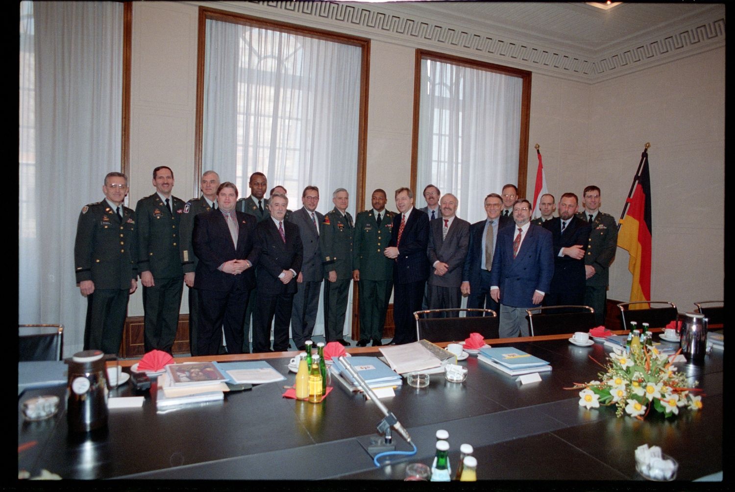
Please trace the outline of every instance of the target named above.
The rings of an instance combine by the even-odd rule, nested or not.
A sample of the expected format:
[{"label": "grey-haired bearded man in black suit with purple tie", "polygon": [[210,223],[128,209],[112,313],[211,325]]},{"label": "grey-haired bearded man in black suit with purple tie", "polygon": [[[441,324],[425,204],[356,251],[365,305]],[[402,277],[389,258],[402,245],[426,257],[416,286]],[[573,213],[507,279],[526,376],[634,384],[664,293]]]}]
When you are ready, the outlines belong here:
[{"label": "grey-haired bearded man in black suit with purple tie", "polygon": [[[258,263],[258,299],[253,315],[253,352],[288,350],[288,327],[291,323],[296,279],[301,272],[304,246],[298,226],[284,221],[288,199],[273,193],[270,218],[256,227],[260,246]],[[270,324],[273,326],[273,350],[270,350]]]}]

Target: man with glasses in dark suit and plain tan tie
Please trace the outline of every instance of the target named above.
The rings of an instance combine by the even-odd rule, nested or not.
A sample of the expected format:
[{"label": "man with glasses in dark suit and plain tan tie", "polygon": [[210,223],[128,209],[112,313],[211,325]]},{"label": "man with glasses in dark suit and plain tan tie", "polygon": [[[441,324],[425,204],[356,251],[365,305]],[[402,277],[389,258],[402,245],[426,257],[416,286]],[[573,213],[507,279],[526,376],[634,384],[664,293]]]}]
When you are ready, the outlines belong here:
[{"label": "man with glasses in dark suit and plain tan tie", "polygon": [[[512,218],[503,217],[503,199],[498,193],[485,197],[487,218],[470,226],[470,245],[467,248],[465,265],[462,268],[462,295],[467,297],[467,307],[473,309],[492,309],[498,316],[500,306],[490,297],[490,268],[492,254],[498,243],[498,231],[513,224]],[[469,312],[468,316],[478,313]]]}]

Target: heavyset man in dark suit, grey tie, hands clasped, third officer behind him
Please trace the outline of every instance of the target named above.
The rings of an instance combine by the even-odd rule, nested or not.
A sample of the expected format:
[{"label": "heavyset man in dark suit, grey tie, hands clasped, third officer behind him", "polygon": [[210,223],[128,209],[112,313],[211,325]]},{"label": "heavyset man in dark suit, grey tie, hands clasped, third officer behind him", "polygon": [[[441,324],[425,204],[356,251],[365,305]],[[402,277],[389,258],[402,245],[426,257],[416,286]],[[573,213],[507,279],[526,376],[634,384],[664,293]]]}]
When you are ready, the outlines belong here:
[{"label": "heavyset man in dark suit, grey tie, hands clasped, third officer behind him", "polygon": [[199,298],[198,355],[217,355],[224,328],[227,352],[240,354],[243,318],[255,285],[255,218],[234,210],[237,187],[223,182],[217,190],[219,209],[196,215],[193,247],[198,262],[194,287]]}]

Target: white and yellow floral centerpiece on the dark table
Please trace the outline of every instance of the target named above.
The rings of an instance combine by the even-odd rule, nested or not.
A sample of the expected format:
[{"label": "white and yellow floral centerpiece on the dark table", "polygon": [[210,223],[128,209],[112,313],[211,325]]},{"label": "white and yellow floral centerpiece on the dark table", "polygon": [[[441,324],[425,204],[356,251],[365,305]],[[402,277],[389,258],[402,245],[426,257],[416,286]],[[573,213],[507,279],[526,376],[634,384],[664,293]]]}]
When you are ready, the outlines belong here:
[{"label": "white and yellow floral centerpiece on the dark table", "polygon": [[615,405],[616,416],[627,413],[639,420],[648,416],[651,408],[670,417],[678,415],[681,407],[689,410],[702,407],[702,396],[693,394],[701,390],[687,388],[686,374],[678,372],[669,357],[657,349],[637,344],[628,350],[616,348],[609,353],[608,360],[606,366],[595,360],[605,369],[598,374],[600,381],[574,383],[573,388],[565,388],[582,388],[581,407],[589,410]]}]

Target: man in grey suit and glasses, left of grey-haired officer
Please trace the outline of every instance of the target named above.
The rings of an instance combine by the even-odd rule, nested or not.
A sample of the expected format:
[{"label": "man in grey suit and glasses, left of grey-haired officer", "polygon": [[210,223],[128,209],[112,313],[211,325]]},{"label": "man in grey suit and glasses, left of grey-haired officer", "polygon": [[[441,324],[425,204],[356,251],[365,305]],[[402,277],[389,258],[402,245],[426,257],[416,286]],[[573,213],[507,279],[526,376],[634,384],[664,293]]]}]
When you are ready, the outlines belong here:
[{"label": "man in grey suit and glasses, left of grey-haired officer", "polygon": [[298,290],[293,296],[291,311],[291,335],[298,350],[305,350],[305,342],[312,338],[319,310],[319,293],[324,267],[319,248],[319,224],[324,215],[316,211],[319,204],[319,188],[307,186],[301,193],[304,207],[290,214],[290,220],[298,226],[301,243],[304,245],[304,260],[296,283]]}]

